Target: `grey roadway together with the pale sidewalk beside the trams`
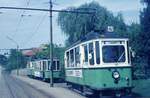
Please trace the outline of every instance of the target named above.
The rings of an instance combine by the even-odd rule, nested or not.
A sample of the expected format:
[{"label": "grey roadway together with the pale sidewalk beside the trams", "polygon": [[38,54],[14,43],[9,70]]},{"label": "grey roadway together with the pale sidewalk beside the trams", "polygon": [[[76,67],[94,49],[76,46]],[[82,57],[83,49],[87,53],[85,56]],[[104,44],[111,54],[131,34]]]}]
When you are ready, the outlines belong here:
[{"label": "grey roadway together with the pale sidewalk beside the trams", "polygon": [[[96,96],[82,96],[75,90],[70,90],[64,84],[55,84],[50,88],[48,83],[30,79],[24,76],[12,76],[7,72],[1,72],[0,68],[0,98],[96,98]],[[105,97],[104,97],[105,98]],[[112,98],[112,97],[109,97]],[[123,97],[130,98],[130,97]],[[133,94],[133,98],[141,97]]]}]

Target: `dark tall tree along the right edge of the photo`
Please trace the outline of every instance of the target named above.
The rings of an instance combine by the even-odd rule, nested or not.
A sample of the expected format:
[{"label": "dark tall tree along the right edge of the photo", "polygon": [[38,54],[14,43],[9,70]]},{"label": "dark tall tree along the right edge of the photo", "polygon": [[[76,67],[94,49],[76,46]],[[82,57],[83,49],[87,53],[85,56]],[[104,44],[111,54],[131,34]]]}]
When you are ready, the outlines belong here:
[{"label": "dark tall tree along the right edge of the photo", "polygon": [[138,50],[139,56],[143,58],[143,61],[146,64],[146,69],[150,68],[150,1],[143,0],[143,4],[146,7],[140,14],[140,22],[141,22],[141,33],[139,34],[139,45],[140,48]]}]

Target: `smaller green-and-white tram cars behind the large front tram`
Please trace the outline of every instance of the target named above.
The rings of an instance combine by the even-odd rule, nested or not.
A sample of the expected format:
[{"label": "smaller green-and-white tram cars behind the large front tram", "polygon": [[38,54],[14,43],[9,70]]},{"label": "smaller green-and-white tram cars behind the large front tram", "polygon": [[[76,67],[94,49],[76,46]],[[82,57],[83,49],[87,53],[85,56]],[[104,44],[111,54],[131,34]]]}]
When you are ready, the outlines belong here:
[{"label": "smaller green-and-white tram cars behind the large front tram", "polygon": [[[34,78],[42,79],[44,81],[50,80],[51,72],[50,72],[50,60],[35,60],[29,63],[30,68],[28,68],[28,75]],[[33,67],[33,68],[31,68]],[[53,60],[53,78],[54,80],[61,80],[62,71],[59,59]]]}]

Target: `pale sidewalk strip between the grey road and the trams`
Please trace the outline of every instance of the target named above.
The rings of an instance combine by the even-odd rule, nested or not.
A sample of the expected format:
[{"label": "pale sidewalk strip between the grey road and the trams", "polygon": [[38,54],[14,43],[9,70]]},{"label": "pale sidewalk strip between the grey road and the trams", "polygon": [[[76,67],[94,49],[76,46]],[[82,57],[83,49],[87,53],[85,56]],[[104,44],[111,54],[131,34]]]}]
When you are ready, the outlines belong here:
[{"label": "pale sidewalk strip between the grey road and the trams", "polygon": [[69,90],[63,83],[56,83],[54,87],[50,87],[48,83],[31,79],[26,76],[13,75],[13,77],[22,80],[23,82],[29,84],[33,88],[40,90],[45,94],[53,96],[54,98],[85,98],[84,96],[72,90]]}]

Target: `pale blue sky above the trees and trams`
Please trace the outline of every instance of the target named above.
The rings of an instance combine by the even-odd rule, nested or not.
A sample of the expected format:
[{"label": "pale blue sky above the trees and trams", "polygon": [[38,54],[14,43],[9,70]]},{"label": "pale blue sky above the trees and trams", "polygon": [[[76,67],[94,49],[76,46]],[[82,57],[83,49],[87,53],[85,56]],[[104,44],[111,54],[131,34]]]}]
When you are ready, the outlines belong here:
[{"label": "pale blue sky above the trees and trams", "polygon": [[[49,8],[49,0],[0,0],[0,6]],[[94,0],[52,0],[53,9],[78,7]],[[116,15],[121,12],[125,23],[139,23],[140,0],[95,0]],[[0,9],[0,49],[39,47],[49,42],[49,13],[23,10]],[[53,13],[53,41],[64,45],[65,34],[57,25],[57,13]]]}]

